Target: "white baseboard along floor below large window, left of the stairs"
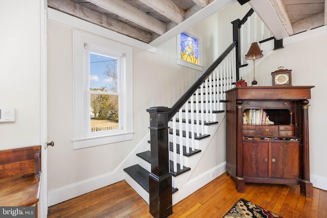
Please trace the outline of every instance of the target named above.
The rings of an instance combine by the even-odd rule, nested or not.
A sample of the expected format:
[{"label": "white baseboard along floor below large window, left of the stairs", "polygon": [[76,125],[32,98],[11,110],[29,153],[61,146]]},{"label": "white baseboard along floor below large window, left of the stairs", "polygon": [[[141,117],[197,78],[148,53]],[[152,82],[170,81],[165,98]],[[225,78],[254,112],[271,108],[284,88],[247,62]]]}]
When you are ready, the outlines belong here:
[{"label": "white baseboard along floor below large window, left of the stairs", "polygon": [[50,190],[48,192],[48,206],[59,204],[122,180],[124,180],[123,172],[115,172]]}]

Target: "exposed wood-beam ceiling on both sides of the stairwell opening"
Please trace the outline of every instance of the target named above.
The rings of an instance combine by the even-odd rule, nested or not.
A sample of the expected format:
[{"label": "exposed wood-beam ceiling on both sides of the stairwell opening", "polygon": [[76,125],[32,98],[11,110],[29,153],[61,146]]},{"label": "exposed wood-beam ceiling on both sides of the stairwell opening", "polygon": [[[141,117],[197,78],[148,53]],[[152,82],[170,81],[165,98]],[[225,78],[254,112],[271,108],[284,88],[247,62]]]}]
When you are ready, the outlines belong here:
[{"label": "exposed wood-beam ceiling on both sides of the stairwell opening", "polygon": [[[216,1],[48,0],[48,7],[150,43]],[[324,0],[269,1],[289,36],[326,25]]]}]

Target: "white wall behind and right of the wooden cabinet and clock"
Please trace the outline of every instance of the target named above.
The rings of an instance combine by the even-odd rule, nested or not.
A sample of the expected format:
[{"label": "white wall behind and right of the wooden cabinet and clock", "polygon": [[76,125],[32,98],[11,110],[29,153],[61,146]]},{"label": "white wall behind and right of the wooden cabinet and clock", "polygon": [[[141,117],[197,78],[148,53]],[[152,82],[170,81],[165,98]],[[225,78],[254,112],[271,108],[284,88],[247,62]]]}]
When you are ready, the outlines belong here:
[{"label": "white wall behind and right of the wooden cabinet and clock", "polygon": [[256,67],[256,75],[258,84],[270,86],[271,72],[277,70],[278,66],[284,66],[286,69],[292,69],[293,86],[315,86],[311,89],[309,100],[310,174],[314,187],[327,190],[327,147],[324,141],[327,116],[323,114],[327,107],[327,102],[324,101],[327,93],[327,28],[322,28],[324,35],[284,45],[284,49],[273,51],[264,57]]}]

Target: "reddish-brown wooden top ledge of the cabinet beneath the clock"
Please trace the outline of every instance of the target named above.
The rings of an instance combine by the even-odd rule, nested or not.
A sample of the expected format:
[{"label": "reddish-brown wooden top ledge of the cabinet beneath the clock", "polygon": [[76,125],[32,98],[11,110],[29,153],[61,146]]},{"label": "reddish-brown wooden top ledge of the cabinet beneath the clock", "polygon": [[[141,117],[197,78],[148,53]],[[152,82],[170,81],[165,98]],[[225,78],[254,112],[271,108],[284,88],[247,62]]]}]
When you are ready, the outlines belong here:
[{"label": "reddish-brown wooden top ledge of the cabinet beneath the clock", "polygon": [[232,88],[239,100],[307,100],[314,86],[241,86]]}]

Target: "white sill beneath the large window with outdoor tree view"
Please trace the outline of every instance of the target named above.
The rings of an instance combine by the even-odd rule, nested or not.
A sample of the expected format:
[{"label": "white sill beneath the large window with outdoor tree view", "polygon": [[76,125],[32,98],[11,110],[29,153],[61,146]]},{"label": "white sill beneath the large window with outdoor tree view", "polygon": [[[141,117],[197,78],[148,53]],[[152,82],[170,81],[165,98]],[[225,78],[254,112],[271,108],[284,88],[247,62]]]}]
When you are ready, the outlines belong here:
[{"label": "white sill beneath the large window with outdoor tree view", "polygon": [[121,141],[128,141],[133,139],[134,132],[124,132],[119,134],[87,137],[81,139],[73,139],[73,150],[84,149],[94,146],[101,146],[103,144],[116,143]]}]

